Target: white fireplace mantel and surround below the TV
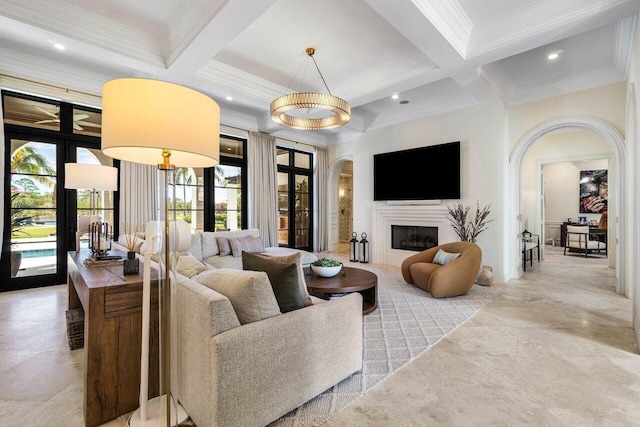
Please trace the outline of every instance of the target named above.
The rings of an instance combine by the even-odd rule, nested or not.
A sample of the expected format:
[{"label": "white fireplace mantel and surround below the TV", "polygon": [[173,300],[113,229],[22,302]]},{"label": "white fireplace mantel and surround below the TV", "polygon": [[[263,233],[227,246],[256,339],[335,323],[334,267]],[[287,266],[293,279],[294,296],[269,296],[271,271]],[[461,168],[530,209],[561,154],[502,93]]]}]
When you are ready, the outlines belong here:
[{"label": "white fireplace mantel and surround below the TV", "polygon": [[438,244],[458,240],[447,218],[446,206],[406,205],[371,208],[371,261],[400,266],[414,251],[391,248],[391,226],[438,227]]}]

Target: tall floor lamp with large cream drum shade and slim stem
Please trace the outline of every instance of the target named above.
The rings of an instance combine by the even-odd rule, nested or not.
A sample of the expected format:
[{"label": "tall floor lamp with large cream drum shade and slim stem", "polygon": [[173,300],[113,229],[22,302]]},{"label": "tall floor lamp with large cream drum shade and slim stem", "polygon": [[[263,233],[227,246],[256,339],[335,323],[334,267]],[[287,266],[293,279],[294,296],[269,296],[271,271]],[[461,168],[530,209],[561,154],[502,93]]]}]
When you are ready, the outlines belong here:
[{"label": "tall floor lamp with large cream drum shade and slim stem", "polygon": [[[162,243],[164,259],[168,260],[169,174],[176,167],[205,168],[219,163],[220,107],[208,96],[172,83],[136,78],[109,81],[102,88],[102,151],[116,159],[158,165],[163,172]],[[169,358],[171,276],[168,263],[164,264],[160,292],[160,395],[164,393],[166,400],[172,400]],[[143,336],[144,328],[148,332],[148,322],[143,324]],[[143,387],[148,384],[141,384],[141,389]],[[157,421],[151,419],[152,414],[147,413],[147,402],[143,400],[141,398],[140,408],[130,424],[157,425]],[[166,404],[163,409],[164,413],[157,414],[157,419],[165,420],[166,425],[171,426],[172,405]]]}]

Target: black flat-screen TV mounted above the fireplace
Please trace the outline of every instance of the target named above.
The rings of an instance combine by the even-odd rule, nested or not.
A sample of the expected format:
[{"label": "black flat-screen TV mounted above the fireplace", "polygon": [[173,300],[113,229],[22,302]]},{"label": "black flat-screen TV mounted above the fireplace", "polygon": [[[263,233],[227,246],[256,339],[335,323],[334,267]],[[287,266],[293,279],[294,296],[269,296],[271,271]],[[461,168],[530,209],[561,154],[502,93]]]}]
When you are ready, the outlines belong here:
[{"label": "black flat-screen TV mounted above the fireplace", "polygon": [[373,156],[373,200],[460,198],[460,141]]}]

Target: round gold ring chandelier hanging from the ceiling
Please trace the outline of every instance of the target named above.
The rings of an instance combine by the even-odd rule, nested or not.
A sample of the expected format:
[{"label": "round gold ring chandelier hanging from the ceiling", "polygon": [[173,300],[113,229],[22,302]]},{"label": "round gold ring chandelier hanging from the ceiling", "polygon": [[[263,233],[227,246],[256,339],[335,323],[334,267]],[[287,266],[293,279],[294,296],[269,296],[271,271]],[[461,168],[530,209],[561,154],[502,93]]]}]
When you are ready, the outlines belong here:
[{"label": "round gold ring chandelier hanging from the ceiling", "polygon": [[[306,49],[306,52],[313,60],[318,74],[320,74],[320,78],[322,78],[324,87],[329,93],[298,92],[276,98],[271,103],[271,120],[280,125],[300,130],[333,129],[347,124],[349,120],[351,120],[351,107],[349,103],[331,94],[318,68],[318,64],[316,64],[316,60],[313,58],[315,49],[309,47]],[[289,112],[295,113],[295,110],[303,109],[324,110],[332,114],[328,117],[320,118],[307,118],[300,114],[289,114]]]}]

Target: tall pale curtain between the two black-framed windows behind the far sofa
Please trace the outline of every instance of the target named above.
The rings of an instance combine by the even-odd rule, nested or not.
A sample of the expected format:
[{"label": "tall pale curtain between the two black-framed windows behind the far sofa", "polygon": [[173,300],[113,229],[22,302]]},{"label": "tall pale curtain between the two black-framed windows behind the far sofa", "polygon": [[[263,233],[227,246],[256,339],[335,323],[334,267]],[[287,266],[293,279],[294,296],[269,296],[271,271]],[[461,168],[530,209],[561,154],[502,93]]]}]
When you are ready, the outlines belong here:
[{"label": "tall pale curtain between the two black-framed windows behind the far sofa", "polygon": [[260,230],[265,247],[278,246],[276,139],[249,132],[249,228]]}]

